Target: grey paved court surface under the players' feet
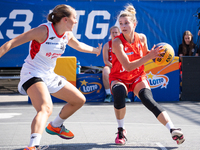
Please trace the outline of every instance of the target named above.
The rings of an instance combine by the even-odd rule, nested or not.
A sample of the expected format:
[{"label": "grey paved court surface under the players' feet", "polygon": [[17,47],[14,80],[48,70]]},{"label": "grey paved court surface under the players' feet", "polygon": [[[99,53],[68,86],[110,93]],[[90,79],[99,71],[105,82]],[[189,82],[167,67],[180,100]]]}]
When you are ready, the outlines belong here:
[{"label": "grey paved court surface under the players' feet", "polygon": [[[54,103],[53,120],[65,103]],[[140,102],[127,104],[125,127],[127,143],[114,144],[117,123],[113,103],[90,102],[68,118],[64,125],[75,137],[64,140],[45,131],[41,145],[49,150],[200,150],[200,102],[160,103],[186,141],[177,145],[166,127],[160,124]],[[30,125],[36,111],[28,97],[19,94],[0,95],[0,150],[23,149],[29,144]]]}]

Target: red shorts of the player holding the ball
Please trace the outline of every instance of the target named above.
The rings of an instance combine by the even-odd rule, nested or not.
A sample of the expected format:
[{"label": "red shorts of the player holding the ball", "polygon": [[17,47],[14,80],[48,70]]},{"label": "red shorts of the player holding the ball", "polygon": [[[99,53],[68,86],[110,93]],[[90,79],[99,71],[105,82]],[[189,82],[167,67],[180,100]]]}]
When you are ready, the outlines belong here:
[{"label": "red shorts of the player holding the ball", "polygon": [[[123,80],[121,80],[121,79],[119,79],[119,78],[110,78],[112,81],[110,82],[110,85],[111,85],[111,83],[113,82],[113,81],[115,81],[115,80],[117,80],[117,81],[119,81],[119,82],[122,82],[122,83],[124,83],[125,85],[126,85],[126,88],[127,88],[127,90],[128,90],[128,92],[133,92],[134,91],[134,88],[135,88],[135,86],[139,83],[139,82],[141,82],[141,81],[143,81],[143,80],[146,80],[147,79],[147,76],[146,76],[146,73],[142,73],[140,76],[138,76],[138,77],[136,77],[136,78],[133,78],[132,79],[132,83],[126,83],[126,82],[124,82]],[[148,82],[149,83],[149,82]]]}]

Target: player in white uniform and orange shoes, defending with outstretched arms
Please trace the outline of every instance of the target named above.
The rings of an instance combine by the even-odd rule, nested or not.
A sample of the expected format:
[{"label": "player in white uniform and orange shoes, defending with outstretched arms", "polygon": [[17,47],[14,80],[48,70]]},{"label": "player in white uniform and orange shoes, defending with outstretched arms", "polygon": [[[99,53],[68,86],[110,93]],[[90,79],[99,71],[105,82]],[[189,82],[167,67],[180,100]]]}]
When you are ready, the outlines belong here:
[{"label": "player in white uniform and orange shoes, defending with outstretched arms", "polygon": [[76,11],[71,6],[57,5],[47,19],[49,23],[31,29],[0,47],[1,58],[10,49],[31,41],[29,55],[22,66],[18,89],[20,93],[28,94],[37,114],[31,124],[30,143],[24,150],[44,149],[39,145],[53,109],[50,94],[67,104],[48,124],[46,132],[64,139],[74,137],[74,134],[64,127],[63,122],[81,108],[86,99],[75,86],[54,73],[56,59],[64,53],[67,44],[78,51],[94,53],[97,56],[102,49],[102,44],[93,48],[73,36],[72,29],[77,20]]}]

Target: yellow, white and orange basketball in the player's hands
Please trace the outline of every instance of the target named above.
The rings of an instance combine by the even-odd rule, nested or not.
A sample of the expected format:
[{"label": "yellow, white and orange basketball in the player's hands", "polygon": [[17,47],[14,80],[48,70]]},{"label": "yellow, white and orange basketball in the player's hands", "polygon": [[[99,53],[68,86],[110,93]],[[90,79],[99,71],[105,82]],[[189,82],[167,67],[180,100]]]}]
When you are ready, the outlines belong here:
[{"label": "yellow, white and orange basketball in the player's hands", "polygon": [[155,58],[153,61],[159,66],[166,66],[170,64],[174,60],[173,47],[167,43],[158,43],[155,48],[158,46],[162,46],[161,52],[164,51],[164,53],[159,55],[162,58]]}]

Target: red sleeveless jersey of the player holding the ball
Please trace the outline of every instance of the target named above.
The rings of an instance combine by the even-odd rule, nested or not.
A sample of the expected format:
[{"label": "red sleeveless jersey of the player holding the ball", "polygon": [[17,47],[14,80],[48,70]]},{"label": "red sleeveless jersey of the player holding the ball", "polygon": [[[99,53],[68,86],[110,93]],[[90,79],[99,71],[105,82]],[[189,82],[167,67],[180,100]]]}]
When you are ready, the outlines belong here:
[{"label": "red sleeveless jersey of the player holding the ball", "polygon": [[[140,42],[138,34],[134,33],[134,43],[129,44],[125,39],[123,34],[121,33],[116,38],[119,38],[124,46],[124,52],[128,56],[128,59],[130,62],[140,59],[143,57],[144,49],[142,47],[142,44]],[[124,67],[121,65],[119,60],[117,59],[116,55],[112,53],[112,68],[109,75],[110,83],[113,80],[119,80],[123,81],[127,84],[132,84],[135,82],[137,77],[140,75],[146,76],[144,72],[144,65],[132,70],[132,71],[126,71]]]}]

